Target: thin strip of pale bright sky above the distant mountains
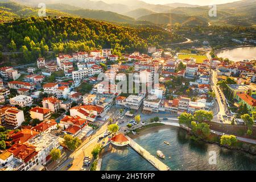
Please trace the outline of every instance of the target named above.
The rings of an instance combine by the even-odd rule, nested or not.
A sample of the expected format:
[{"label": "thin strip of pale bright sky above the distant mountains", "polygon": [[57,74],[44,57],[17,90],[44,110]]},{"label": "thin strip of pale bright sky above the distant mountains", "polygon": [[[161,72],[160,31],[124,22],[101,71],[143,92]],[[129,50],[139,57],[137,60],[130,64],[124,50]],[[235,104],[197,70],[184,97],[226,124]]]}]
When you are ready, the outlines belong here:
[{"label": "thin strip of pale bright sky above the distant mountains", "polygon": [[167,4],[167,3],[187,3],[190,5],[200,5],[200,6],[206,6],[206,5],[217,5],[217,4],[224,4],[229,2],[235,2],[240,0],[141,0],[147,3],[151,4]]}]

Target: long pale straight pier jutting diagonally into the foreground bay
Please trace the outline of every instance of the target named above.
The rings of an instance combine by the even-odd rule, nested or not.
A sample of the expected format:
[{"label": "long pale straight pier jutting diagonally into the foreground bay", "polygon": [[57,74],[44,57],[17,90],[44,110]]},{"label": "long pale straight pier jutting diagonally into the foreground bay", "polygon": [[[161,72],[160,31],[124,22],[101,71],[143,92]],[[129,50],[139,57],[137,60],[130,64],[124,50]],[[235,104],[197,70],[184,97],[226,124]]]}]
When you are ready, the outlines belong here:
[{"label": "long pale straight pier jutting diagonally into the foreground bay", "polygon": [[133,139],[128,137],[127,135],[125,136],[127,139],[130,140],[130,147],[133,148],[135,151],[138,152],[141,156],[143,156],[144,159],[146,159],[148,162],[150,162],[156,169],[159,171],[169,171],[170,168],[166,166],[163,162],[161,162],[158,158],[155,156],[151,155],[150,152],[142,148],[138,143],[134,142]]}]

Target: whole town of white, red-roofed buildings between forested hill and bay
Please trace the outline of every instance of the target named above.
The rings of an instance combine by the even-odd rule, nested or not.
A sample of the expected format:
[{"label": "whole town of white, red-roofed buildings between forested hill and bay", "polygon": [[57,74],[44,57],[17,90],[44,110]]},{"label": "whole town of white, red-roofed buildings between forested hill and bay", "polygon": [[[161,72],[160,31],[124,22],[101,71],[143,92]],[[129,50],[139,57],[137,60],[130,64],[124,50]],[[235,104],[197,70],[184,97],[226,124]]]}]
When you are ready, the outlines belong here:
[{"label": "whole town of white, red-roofed buildings between forested hill and bay", "polygon": [[[72,168],[71,159],[85,157],[74,150],[90,155],[99,136],[108,139],[110,124],[125,134],[142,125],[134,119],[178,120],[204,110],[218,125],[246,125],[242,115],[256,111],[255,61],[181,55],[154,46],[129,55],[98,49],[0,68],[0,170]],[[108,86],[98,79],[102,73]],[[118,87],[129,74],[138,93]],[[141,92],[143,84],[152,88]]]}]

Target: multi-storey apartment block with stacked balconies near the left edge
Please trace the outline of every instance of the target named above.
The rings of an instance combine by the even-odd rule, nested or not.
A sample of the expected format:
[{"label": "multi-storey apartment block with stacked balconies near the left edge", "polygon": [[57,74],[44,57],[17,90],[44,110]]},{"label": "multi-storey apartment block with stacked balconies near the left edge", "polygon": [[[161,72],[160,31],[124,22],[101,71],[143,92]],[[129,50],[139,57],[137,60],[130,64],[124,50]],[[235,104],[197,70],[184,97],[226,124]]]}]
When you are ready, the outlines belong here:
[{"label": "multi-storey apartment block with stacked balconies near the left edge", "polygon": [[15,107],[11,107],[5,111],[5,123],[13,127],[18,128],[22,122],[25,121],[23,110],[19,110]]}]

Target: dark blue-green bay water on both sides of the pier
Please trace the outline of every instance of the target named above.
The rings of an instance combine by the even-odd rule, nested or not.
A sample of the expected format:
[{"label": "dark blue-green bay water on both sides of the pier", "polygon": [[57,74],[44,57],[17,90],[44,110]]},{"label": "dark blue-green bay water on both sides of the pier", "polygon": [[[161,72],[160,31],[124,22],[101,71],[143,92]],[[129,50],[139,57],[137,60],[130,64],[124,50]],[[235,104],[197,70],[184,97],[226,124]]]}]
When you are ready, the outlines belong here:
[{"label": "dark blue-green bay water on both sides of the pier", "polygon": [[[256,170],[256,156],[228,150],[216,144],[189,140],[186,131],[167,127],[134,139],[156,156],[161,150],[166,159],[160,159],[171,170]],[[167,141],[170,146],[164,144]],[[210,151],[216,152],[216,164],[210,165]],[[171,158],[169,158],[171,157]],[[103,155],[101,170],[156,170],[130,147],[114,147]]]}]

